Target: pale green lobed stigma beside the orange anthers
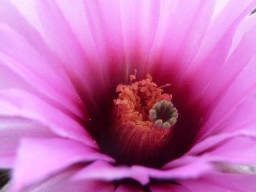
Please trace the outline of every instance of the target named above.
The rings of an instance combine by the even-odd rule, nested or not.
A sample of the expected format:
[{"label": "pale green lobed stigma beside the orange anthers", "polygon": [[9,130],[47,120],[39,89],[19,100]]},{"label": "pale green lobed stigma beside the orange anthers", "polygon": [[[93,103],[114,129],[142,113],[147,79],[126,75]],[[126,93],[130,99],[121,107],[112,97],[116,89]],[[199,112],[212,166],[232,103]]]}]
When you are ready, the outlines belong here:
[{"label": "pale green lobed stigma beside the orange anthers", "polygon": [[149,111],[150,119],[155,127],[169,129],[177,122],[178,111],[170,101],[159,101]]}]

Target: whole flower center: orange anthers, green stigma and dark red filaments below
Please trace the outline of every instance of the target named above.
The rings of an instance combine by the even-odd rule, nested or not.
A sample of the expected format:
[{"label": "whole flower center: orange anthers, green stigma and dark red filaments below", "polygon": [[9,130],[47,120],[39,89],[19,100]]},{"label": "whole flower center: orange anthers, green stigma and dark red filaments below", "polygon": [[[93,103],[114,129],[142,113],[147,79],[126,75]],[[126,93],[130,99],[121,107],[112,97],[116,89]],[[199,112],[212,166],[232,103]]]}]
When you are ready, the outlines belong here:
[{"label": "whole flower center: orange anthers, green stigma and dark red filaments below", "polygon": [[158,87],[149,74],[142,81],[134,80],[136,74],[130,76],[129,85],[116,87],[119,95],[103,135],[103,150],[116,163],[159,167],[168,162],[178,111],[172,95],[163,93],[169,84]]}]

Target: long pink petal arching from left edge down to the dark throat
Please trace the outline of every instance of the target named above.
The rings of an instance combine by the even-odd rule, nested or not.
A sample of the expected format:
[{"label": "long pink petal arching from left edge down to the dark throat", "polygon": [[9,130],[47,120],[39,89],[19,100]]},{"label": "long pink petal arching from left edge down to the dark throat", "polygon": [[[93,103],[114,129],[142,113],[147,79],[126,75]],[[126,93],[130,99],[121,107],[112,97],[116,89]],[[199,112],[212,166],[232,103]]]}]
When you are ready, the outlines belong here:
[{"label": "long pink petal arching from left edge down to the dark throat", "polygon": [[73,138],[96,147],[90,134],[78,124],[76,119],[45,103],[37,96],[25,91],[8,90],[1,91],[0,98],[0,114],[37,119],[61,137]]}]

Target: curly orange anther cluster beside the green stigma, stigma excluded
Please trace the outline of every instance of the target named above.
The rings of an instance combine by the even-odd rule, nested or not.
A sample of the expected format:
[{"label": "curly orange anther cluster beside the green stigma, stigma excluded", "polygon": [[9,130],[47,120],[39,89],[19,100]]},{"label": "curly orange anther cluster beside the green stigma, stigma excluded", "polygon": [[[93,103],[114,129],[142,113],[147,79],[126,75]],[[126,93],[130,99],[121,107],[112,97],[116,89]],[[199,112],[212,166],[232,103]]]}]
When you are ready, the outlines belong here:
[{"label": "curly orange anther cluster beside the green stigma, stigma excluded", "polygon": [[114,99],[114,104],[118,106],[119,115],[116,118],[122,124],[134,124],[145,129],[154,127],[149,111],[152,106],[158,101],[171,101],[172,95],[163,93],[165,86],[157,87],[157,84],[152,82],[152,76],[146,75],[142,81],[136,80],[136,70],[134,75],[130,76],[129,85],[119,84],[116,92],[119,93],[117,99]]}]

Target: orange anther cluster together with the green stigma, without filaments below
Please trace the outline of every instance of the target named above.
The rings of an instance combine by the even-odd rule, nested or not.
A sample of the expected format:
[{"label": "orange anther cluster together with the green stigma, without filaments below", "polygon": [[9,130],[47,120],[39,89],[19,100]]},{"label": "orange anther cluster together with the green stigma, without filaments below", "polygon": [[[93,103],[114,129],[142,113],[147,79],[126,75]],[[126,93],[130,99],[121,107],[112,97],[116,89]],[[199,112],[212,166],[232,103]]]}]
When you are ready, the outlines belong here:
[{"label": "orange anther cluster together with the green stigma, without filaments below", "polygon": [[130,124],[144,129],[173,127],[178,111],[171,103],[172,95],[163,93],[165,86],[157,87],[152,76],[146,75],[142,81],[136,80],[136,73],[130,76],[129,85],[120,84],[114,104],[118,106],[118,118],[122,124]]}]

